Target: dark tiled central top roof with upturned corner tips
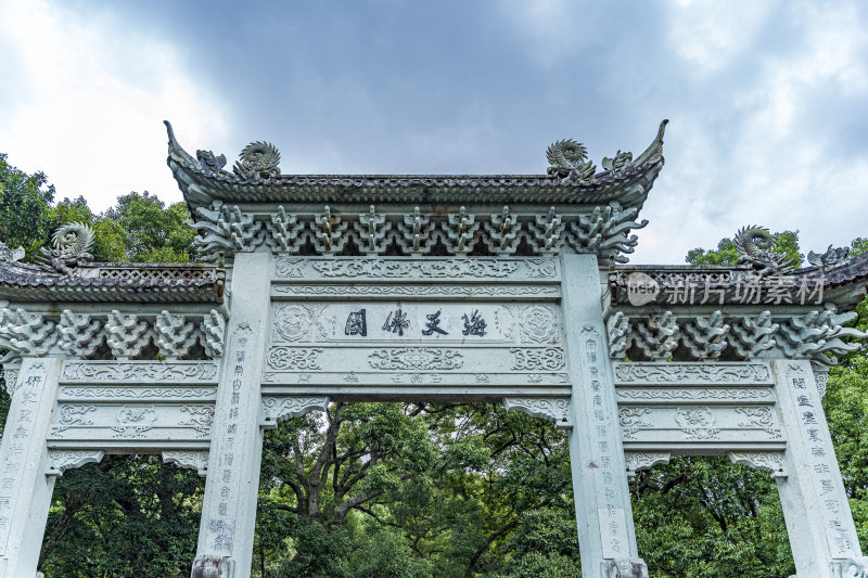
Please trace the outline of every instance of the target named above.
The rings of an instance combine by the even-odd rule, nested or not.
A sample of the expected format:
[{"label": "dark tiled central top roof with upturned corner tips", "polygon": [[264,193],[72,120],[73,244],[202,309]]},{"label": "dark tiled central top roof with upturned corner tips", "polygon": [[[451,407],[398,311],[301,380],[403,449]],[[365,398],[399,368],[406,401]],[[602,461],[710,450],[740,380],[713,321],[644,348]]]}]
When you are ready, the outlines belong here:
[{"label": "dark tiled central top roof with upturned corner tips", "polygon": [[[588,181],[551,175],[281,175],[252,181],[220,170],[212,172],[184,151],[166,123],[167,163],[190,205],[224,203],[412,203],[412,204],[565,204],[599,205],[616,201],[641,207],[663,168],[663,129],[635,163]],[[637,188],[638,185],[638,188]]]}]

